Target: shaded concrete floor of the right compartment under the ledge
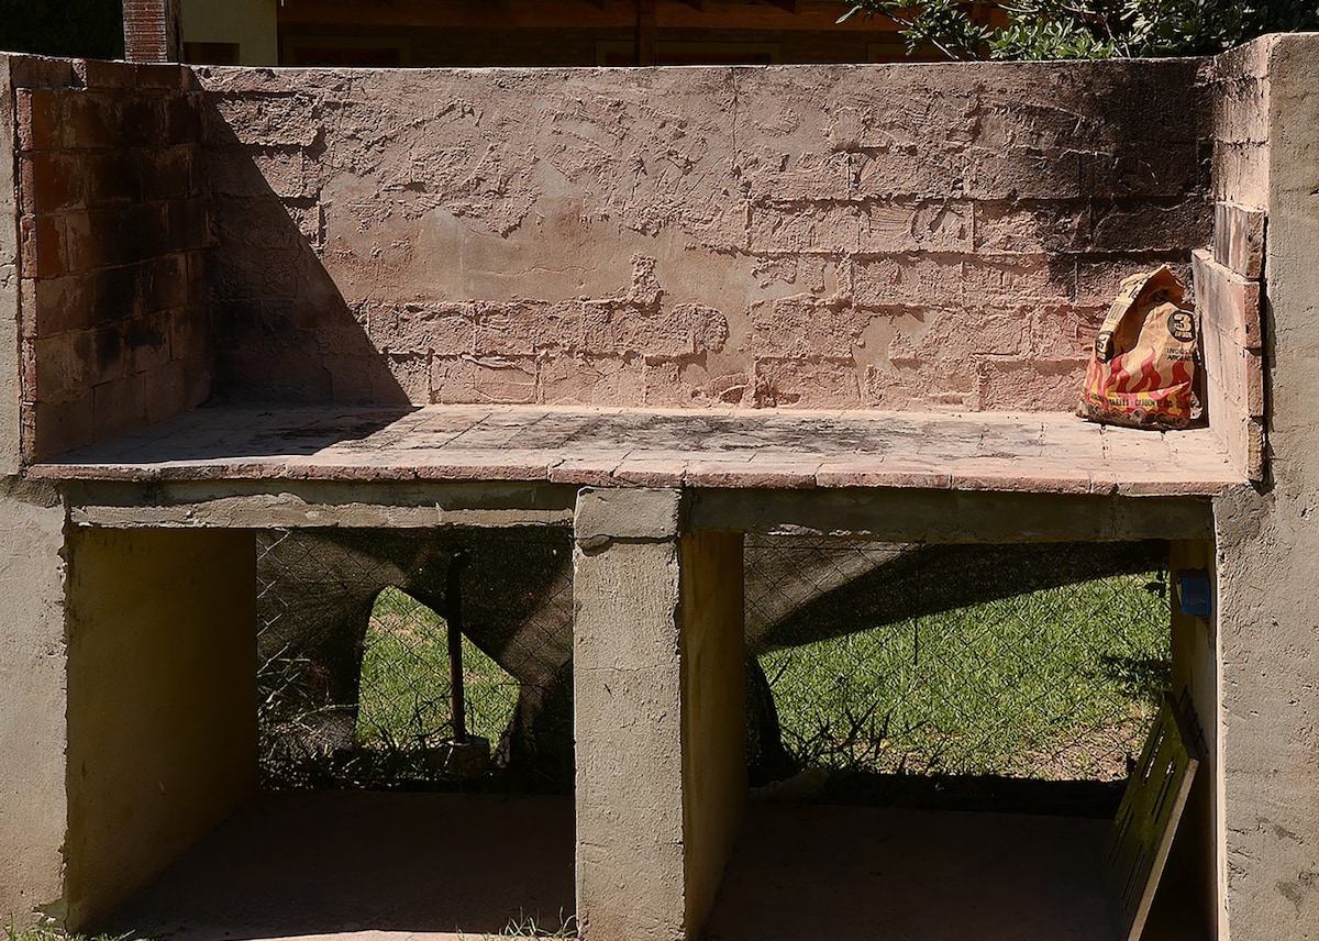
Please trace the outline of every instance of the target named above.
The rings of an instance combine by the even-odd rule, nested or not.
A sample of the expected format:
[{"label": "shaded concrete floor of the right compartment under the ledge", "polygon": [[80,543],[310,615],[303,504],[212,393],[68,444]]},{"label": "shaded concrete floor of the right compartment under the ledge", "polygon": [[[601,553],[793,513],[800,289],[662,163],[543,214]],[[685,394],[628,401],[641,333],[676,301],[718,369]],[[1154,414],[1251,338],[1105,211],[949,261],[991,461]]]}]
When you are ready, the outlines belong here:
[{"label": "shaded concrete floor of the right compartment under the ledge", "polygon": [[[1117,941],[1107,820],[757,805],[706,941]],[[1145,941],[1203,941],[1175,911]]]}]

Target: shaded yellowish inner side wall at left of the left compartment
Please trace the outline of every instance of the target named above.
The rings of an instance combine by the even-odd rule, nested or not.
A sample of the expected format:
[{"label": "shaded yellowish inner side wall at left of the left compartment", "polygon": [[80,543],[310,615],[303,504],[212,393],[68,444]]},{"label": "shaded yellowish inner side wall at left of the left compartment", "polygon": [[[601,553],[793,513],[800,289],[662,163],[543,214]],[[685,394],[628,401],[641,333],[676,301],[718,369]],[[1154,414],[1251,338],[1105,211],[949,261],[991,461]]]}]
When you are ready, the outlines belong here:
[{"label": "shaded yellowish inner side wall at left of the left compartment", "polygon": [[67,564],[57,915],[83,930],[256,792],[256,549],[245,531],[77,529]]}]

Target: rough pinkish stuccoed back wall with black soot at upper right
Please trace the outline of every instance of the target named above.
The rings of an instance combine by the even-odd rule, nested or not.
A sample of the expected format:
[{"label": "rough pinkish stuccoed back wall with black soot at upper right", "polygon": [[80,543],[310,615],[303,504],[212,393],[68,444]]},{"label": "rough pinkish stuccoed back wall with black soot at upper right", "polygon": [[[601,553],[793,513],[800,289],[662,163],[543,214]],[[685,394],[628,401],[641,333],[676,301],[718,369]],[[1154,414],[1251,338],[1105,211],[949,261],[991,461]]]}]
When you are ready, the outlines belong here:
[{"label": "rough pinkish stuccoed back wall with black soot at upper right", "polygon": [[200,69],[219,381],[1068,409],[1208,242],[1198,67]]}]

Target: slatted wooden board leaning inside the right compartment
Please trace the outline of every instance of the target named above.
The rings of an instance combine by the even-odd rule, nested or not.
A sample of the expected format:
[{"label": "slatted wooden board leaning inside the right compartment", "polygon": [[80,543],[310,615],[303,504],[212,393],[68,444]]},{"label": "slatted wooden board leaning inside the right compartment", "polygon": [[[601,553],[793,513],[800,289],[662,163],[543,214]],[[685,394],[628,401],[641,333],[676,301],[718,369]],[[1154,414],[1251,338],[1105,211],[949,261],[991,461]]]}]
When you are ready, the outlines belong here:
[{"label": "slatted wooden board leaning inside the right compartment", "polygon": [[1137,941],[1199,765],[1190,722],[1165,696],[1104,846],[1104,880],[1119,937]]}]

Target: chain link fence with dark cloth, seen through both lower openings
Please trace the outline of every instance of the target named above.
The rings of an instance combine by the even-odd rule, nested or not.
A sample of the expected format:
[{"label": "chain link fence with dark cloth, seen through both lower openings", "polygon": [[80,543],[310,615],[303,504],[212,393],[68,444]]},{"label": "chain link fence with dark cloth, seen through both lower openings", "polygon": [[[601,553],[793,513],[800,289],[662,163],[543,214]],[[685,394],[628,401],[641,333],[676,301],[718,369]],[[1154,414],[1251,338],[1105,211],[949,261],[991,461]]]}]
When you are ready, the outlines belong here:
[{"label": "chain link fence with dark cloth, seen through both lower openings", "polygon": [[[1125,777],[1169,680],[1166,558],[748,536],[753,783]],[[257,578],[266,787],[571,788],[567,529],[269,531]]]}]

